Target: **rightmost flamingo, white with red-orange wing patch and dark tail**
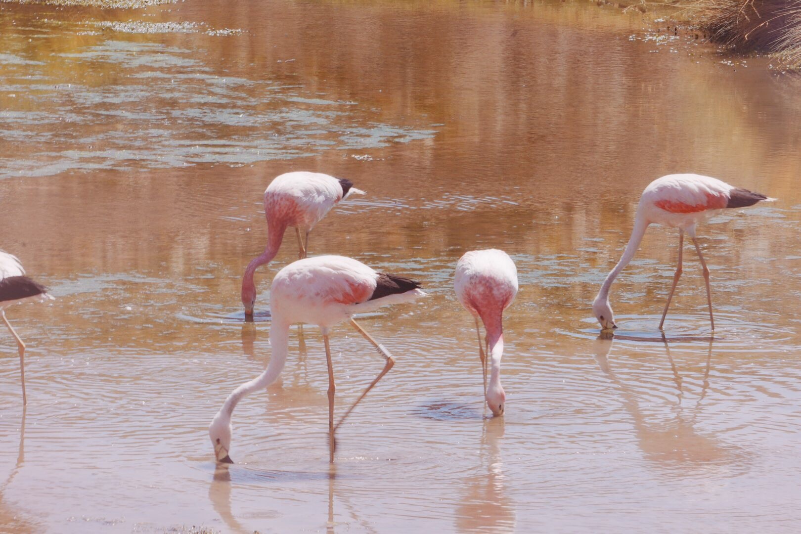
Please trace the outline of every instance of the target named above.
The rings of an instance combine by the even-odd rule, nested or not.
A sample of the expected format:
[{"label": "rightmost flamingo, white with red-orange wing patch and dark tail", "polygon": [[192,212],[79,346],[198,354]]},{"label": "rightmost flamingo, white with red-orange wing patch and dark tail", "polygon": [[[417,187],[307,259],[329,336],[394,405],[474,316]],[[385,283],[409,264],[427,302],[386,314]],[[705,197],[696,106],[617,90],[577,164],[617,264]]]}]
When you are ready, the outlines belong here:
[{"label": "rightmost flamingo, white with red-orange wing patch and dark tail", "polygon": [[701,247],[698,239],[695,238],[695,226],[720,214],[724,209],[734,207],[753,206],[755,203],[764,200],[774,201],[761,193],[739,189],[730,186],[721,180],[702,175],[666,175],[651,182],[645,191],[642,191],[640,203],[637,207],[637,215],[634,218],[634,230],[631,231],[631,238],[626,245],[626,250],[606,276],[601,290],[593,302],[593,312],[598,323],[601,323],[602,331],[609,331],[618,326],[614,323],[612,307],[609,303],[609,290],[615,277],[620,274],[623,267],[634,258],[634,253],[639,247],[642,236],[650,224],[662,224],[666,227],[678,228],[678,265],[673,277],[673,286],[670,287],[670,295],[667,295],[665,310],[662,311],[662,320],[659,322],[659,329],[665,323],[667,309],[670,307],[670,300],[676,290],[678,278],[682,275],[682,248],[684,247],[684,234],[690,236],[701,260],[703,277],[706,282],[706,303],[709,305],[709,321],[714,330],[714,317],[712,315],[712,293],[709,287],[709,268],[701,254]]}]

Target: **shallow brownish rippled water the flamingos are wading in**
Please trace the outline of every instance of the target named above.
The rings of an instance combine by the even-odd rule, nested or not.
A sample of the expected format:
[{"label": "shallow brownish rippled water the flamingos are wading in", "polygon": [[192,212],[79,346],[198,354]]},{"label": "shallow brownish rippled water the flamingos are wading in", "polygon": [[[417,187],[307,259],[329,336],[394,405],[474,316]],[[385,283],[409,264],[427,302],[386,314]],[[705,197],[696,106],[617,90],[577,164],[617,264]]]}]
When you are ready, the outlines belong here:
[{"label": "shallow brownish rippled water the flamingos are wading in", "polygon": [[[665,23],[666,24],[666,23]],[[2,248],[57,297],[0,335],[3,532],[797,532],[801,525],[801,96],[639,14],[574,3],[0,3]],[[206,428],[268,361],[239,283],[284,171],[352,179],[312,254],[413,275],[431,294],[361,323],[398,363],[338,433],[315,327],[282,382]],[[673,231],[652,228],[590,300],[642,188],[694,171],[779,201],[699,231],[666,323]],[[500,247],[505,416],[482,406],[467,250]],[[382,362],[332,336],[342,410]]]}]

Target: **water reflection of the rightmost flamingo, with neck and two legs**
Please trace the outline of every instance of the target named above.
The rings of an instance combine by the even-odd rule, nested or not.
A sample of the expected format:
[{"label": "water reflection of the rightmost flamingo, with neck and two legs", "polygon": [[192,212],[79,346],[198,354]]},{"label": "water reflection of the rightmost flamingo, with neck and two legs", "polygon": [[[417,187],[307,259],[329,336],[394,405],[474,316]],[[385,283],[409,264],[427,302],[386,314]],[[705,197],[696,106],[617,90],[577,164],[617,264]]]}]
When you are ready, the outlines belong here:
[{"label": "water reflection of the rightmost flamingo, with neck and two legs", "polygon": [[[618,387],[623,408],[629,413],[634,424],[639,448],[647,460],[678,476],[687,472],[698,474],[698,471],[709,464],[733,463],[739,455],[732,451],[733,448],[730,444],[721,444],[715,437],[702,436],[695,430],[701,400],[706,396],[709,388],[713,338],[709,339],[701,392],[694,408],[690,410],[687,410],[682,404],[685,395],[682,376],[679,375],[678,368],[670,354],[667,340],[663,339],[663,342],[676,391],[675,404],[672,408],[673,416],[664,423],[649,420],[649,416],[641,408],[641,403],[654,402],[654,399],[646,399],[646,395],[653,394],[654,391],[650,391],[645,385],[640,385],[645,383],[643,380],[645,375],[638,374],[637,378],[628,380],[621,378],[612,370],[607,355],[614,345],[614,335],[599,335],[595,342],[595,357],[598,367]],[[638,372],[642,373],[642,369]],[[690,470],[688,471],[687,468]]]}]

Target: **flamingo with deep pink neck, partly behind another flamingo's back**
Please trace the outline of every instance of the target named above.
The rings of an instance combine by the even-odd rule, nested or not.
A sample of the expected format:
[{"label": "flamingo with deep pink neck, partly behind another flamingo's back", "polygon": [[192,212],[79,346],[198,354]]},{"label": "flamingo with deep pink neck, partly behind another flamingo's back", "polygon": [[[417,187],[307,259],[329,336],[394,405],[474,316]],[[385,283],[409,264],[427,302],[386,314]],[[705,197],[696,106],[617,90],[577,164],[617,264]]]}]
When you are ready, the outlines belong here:
[{"label": "flamingo with deep pink neck, partly behind another flamingo's back", "polygon": [[[257,267],[276,257],[287,227],[295,227],[300,249],[298,259],[304,259],[308,251],[308,234],[314,225],[336,203],[353,194],[364,195],[364,191],[353,187],[350,180],[319,172],[287,172],[272,180],[264,191],[264,216],[268,225],[267,247],[261,255],[248,263],[242,277],[242,303],[246,317],[253,317],[253,305],[256,303],[253,273]],[[305,234],[305,244],[300,237],[301,231]]]}]

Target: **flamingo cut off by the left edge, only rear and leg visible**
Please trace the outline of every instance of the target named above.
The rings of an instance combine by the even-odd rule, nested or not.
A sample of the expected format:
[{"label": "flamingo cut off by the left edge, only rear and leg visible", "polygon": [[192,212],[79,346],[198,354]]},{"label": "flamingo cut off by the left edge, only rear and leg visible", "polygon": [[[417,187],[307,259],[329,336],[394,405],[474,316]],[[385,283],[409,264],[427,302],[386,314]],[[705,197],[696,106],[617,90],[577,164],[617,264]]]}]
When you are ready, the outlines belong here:
[{"label": "flamingo cut off by the left edge, only rear and leg visible", "polygon": [[28,404],[28,398],[25,395],[25,343],[22,343],[22,339],[19,339],[17,332],[6,319],[6,308],[28,300],[43,302],[50,299],[53,297],[47,294],[45,287],[25,275],[25,269],[22,268],[22,263],[19,263],[16,256],[0,251],[0,318],[3,323],[6,323],[6,327],[14,339],[17,340],[23,405]]}]

